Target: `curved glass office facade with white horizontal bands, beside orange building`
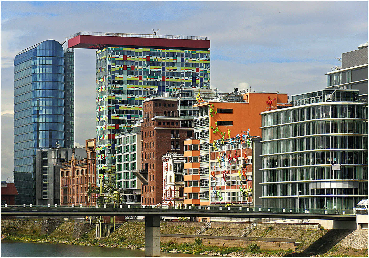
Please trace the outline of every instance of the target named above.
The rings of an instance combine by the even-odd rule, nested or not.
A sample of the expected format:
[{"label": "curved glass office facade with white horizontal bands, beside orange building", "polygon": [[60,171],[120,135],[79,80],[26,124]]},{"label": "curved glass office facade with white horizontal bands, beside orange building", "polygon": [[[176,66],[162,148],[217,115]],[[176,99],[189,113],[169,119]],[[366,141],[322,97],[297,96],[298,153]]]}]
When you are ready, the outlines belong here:
[{"label": "curved glass office facade with white horizontal bands, beside orange building", "polygon": [[352,209],[368,198],[367,103],[266,111],[262,135],[263,207]]}]

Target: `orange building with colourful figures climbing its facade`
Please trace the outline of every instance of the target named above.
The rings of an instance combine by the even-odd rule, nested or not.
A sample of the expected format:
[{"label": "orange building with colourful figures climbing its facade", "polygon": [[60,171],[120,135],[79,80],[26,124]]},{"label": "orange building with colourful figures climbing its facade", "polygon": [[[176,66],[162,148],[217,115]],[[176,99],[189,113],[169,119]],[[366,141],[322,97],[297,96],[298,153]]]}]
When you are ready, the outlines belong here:
[{"label": "orange building with colourful figures climbing its facade", "polygon": [[[245,199],[243,195],[239,196],[240,193],[236,193],[237,191],[240,192],[239,186],[241,185],[237,185],[238,182],[247,182],[246,187],[252,188],[255,193],[258,192],[259,188],[259,179],[257,179],[257,183],[253,182],[253,175],[250,173],[255,169],[258,170],[254,165],[249,163],[248,173],[245,174],[246,178],[244,175],[241,178],[238,176],[237,170],[241,169],[241,165],[242,168],[245,168],[247,160],[249,160],[248,162],[255,160],[255,157],[253,158],[255,151],[251,151],[251,148],[246,147],[245,144],[239,146],[238,140],[241,140],[242,134],[248,134],[253,136],[253,139],[258,139],[259,142],[261,137],[261,113],[271,108],[274,109],[281,104],[286,105],[287,102],[287,94],[246,92],[237,95],[237,92],[235,92],[235,94],[219,94],[217,99],[193,105],[193,107],[199,107],[199,117],[194,118],[193,121],[194,138],[184,140],[184,156],[187,157],[184,163],[184,203],[205,206],[221,204],[229,199],[229,202],[235,200],[235,203],[258,205],[258,200],[254,201],[251,195],[248,195],[249,198]],[[237,140],[237,144],[234,144],[235,147],[227,140],[229,138],[232,141]],[[261,145],[256,144],[255,146],[260,148]],[[246,158],[243,157],[245,150],[247,150]],[[258,152],[259,150],[255,153]],[[211,171],[214,171],[214,165],[211,166],[211,164],[218,162],[219,154],[223,156],[223,166],[215,168],[216,178],[212,182]],[[230,158],[234,155],[239,156],[239,159],[238,161],[235,161],[235,159],[232,161],[228,159],[228,155],[231,155]],[[226,162],[229,166],[226,165]],[[224,177],[225,181],[223,180],[224,169],[227,174]],[[235,185],[232,185],[233,181],[236,181]],[[214,183],[214,189],[212,183]],[[221,187],[222,185],[224,187]],[[225,190],[226,186],[235,190],[221,193],[221,195],[225,194],[222,201],[214,197],[214,190]],[[234,194],[235,196],[231,196]],[[213,202],[211,202],[211,198],[213,198]]]}]

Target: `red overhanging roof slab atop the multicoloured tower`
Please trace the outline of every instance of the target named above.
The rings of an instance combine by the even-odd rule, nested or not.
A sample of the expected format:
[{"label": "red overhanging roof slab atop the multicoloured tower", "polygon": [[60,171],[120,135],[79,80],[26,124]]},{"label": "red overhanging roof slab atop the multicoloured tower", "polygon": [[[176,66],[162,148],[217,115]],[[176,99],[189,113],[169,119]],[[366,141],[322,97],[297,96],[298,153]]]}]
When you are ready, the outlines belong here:
[{"label": "red overhanging roof slab atop the multicoloured tower", "polygon": [[69,48],[138,47],[208,50],[210,40],[174,38],[137,38],[78,35],[68,40]]}]

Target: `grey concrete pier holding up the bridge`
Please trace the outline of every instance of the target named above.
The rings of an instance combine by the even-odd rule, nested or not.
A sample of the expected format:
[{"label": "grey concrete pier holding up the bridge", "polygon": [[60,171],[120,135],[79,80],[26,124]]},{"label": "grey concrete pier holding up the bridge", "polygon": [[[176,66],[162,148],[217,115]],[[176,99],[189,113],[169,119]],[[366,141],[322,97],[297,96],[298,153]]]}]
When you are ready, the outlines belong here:
[{"label": "grey concrete pier holding up the bridge", "polygon": [[160,216],[146,216],[145,234],[145,256],[160,257]]}]

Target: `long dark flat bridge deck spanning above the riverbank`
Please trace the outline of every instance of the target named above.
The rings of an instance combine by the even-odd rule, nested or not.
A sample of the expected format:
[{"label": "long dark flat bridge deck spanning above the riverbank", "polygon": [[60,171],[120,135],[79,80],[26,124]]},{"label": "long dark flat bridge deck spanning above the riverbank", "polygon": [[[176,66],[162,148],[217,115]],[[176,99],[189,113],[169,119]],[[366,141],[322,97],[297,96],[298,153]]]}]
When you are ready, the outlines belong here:
[{"label": "long dark flat bridge deck spanning above the riverbank", "polygon": [[273,219],[356,220],[353,214],[313,214],[238,210],[86,208],[86,207],[2,207],[1,216],[169,216],[169,217],[237,217]]}]

